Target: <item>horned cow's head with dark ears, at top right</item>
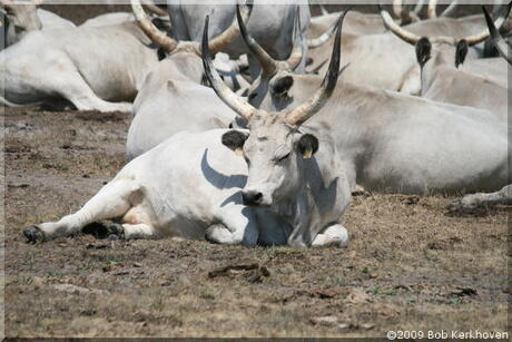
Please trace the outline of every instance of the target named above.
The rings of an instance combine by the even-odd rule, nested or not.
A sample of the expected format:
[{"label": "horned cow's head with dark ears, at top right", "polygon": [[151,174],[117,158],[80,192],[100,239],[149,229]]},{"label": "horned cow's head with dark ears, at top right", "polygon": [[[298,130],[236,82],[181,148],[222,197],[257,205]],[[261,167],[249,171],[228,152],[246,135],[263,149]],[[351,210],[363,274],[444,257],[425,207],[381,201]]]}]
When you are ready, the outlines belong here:
[{"label": "horned cow's head with dark ears, at top right", "polygon": [[[511,6],[512,2],[509,3],[506,10],[496,19],[494,23],[495,27],[500,28],[504,23]],[[461,39],[452,37],[420,37],[396,25],[390,13],[381,6],[378,6],[378,9],[385,26],[396,37],[415,46],[417,62],[422,68],[430,61],[435,61],[437,65],[453,63],[459,68],[459,66],[464,62],[469,48],[484,41],[490,36],[489,31],[485,29],[477,35],[467,36]]]}]

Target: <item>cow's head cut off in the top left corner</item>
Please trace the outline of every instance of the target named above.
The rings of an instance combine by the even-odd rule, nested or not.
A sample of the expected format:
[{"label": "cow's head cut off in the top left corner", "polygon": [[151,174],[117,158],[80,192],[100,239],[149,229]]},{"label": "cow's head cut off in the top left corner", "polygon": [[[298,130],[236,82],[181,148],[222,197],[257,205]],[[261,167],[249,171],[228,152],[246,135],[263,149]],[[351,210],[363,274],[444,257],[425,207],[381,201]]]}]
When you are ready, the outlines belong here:
[{"label": "cow's head cut off in the top left corner", "polygon": [[11,0],[0,0],[0,8],[7,18],[4,26],[8,27],[9,43],[14,43],[28,32],[42,28],[42,22],[37,13],[37,7],[40,3],[41,1],[16,3]]}]

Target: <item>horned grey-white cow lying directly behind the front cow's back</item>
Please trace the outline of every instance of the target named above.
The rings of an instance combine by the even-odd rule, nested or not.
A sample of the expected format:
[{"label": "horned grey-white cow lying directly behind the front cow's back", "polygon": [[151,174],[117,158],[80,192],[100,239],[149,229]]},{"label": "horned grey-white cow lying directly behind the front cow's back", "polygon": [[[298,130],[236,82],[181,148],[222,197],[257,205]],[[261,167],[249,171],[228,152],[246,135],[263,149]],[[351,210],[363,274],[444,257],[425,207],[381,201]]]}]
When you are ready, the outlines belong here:
[{"label": "horned grey-white cow lying directly behind the front cow's back", "polygon": [[[140,2],[132,0],[134,13],[156,43],[161,35],[146,17]],[[244,12],[248,18],[249,10]],[[217,52],[238,36],[234,22],[213,39],[210,50]],[[134,119],[128,130],[126,150],[128,160],[148,152],[178,131],[204,131],[226,128],[236,119],[209,87],[201,85],[203,62],[198,42],[175,41],[165,37],[163,47],[168,57],[148,74],[134,102]],[[224,63],[226,66],[227,63]],[[218,67],[218,65],[217,65]],[[242,80],[240,80],[242,81]]]}]

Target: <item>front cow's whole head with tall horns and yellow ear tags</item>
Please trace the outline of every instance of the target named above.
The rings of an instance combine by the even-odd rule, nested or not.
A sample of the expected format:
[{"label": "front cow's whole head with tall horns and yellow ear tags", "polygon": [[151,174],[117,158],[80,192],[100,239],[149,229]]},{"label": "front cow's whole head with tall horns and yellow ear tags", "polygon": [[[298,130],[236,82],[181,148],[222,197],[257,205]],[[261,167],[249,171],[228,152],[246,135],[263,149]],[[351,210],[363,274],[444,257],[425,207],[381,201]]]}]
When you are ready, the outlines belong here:
[{"label": "front cow's whole head with tall horns and yellow ear tags", "polygon": [[243,190],[246,205],[272,206],[294,196],[305,186],[303,173],[306,160],[318,149],[318,139],[304,134],[301,125],[315,115],[332,95],[338,77],[341,30],[339,18],[331,65],[319,89],[313,97],[291,110],[268,113],[256,109],[237,97],[213,68],[208,52],[208,17],[203,36],[205,74],[220,99],[248,123],[249,133],[230,130],[223,135],[223,144],[242,155],[248,165],[248,180]]}]

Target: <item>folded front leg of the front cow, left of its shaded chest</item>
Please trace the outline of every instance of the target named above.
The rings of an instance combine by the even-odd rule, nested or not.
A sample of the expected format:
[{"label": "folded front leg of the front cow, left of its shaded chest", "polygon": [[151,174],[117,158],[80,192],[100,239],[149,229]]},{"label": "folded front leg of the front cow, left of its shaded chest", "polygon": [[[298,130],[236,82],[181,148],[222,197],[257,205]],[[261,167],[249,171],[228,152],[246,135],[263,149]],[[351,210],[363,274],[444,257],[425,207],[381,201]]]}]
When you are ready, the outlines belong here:
[{"label": "folded front leg of the front cow, left of its shaded chest", "polygon": [[253,209],[239,204],[228,204],[216,213],[218,224],[206,229],[205,238],[223,245],[254,246],[258,240]]}]

